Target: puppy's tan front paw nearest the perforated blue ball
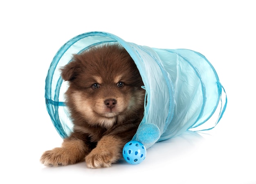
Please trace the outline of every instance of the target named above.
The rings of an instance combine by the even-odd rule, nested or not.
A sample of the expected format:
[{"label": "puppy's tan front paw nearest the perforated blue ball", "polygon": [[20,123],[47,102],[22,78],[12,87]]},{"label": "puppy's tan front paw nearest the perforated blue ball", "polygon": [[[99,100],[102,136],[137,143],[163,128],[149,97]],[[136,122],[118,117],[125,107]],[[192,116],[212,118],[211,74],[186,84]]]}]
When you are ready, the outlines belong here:
[{"label": "puppy's tan front paw nearest the perforated blue ball", "polygon": [[113,155],[108,150],[93,149],[92,152],[85,157],[85,162],[89,168],[109,167],[112,163],[118,160],[116,155]]}]

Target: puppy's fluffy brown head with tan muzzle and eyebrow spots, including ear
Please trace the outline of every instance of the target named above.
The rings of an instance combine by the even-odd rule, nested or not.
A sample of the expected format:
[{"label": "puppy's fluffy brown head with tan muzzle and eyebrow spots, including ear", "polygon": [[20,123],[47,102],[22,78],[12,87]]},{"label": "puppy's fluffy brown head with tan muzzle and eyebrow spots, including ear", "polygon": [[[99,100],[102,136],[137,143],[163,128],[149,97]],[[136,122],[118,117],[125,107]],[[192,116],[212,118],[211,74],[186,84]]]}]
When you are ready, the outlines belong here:
[{"label": "puppy's fluffy brown head with tan muzzle and eyebrow spots, including ear", "polygon": [[79,112],[89,124],[108,128],[143,108],[145,91],[139,71],[127,51],[117,45],[74,55],[62,69],[62,78],[70,84],[66,97],[71,113]]}]

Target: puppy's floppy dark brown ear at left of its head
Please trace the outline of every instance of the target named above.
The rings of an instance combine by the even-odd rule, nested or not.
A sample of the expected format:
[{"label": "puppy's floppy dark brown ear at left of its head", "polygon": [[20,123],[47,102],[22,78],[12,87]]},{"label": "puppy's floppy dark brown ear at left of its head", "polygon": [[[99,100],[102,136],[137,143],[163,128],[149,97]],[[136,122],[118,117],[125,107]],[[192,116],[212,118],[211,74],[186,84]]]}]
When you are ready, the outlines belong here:
[{"label": "puppy's floppy dark brown ear at left of its head", "polygon": [[80,60],[74,55],[73,60],[61,68],[61,77],[65,81],[74,80],[81,70]]}]

